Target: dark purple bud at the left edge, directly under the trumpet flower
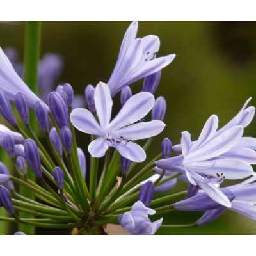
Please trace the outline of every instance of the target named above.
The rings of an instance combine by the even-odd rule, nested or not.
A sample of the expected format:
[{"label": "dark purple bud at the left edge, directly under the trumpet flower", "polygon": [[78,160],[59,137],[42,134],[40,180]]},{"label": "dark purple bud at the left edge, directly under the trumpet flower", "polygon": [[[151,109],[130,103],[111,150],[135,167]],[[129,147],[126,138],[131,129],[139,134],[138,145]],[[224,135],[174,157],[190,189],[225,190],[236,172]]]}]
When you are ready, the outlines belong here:
[{"label": "dark purple bud at the left edge, directly under the trumpet flower", "polygon": [[13,114],[11,104],[5,93],[0,90],[0,115],[11,125],[17,126],[17,120]]}]

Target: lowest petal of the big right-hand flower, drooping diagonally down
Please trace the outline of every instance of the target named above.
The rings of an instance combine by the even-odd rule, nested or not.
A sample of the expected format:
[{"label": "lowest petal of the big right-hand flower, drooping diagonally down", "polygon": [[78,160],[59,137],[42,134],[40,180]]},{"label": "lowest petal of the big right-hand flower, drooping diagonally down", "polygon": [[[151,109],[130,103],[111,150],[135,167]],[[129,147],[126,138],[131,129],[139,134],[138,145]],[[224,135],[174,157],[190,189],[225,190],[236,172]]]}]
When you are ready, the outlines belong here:
[{"label": "lowest petal of the big right-hand flower, drooping diagonally down", "polygon": [[202,188],[205,193],[207,193],[208,196],[212,198],[215,202],[224,205],[225,207],[230,208],[231,207],[231,202],[228,199],[228,197],[218,188],[216,188],[213,184],[211,183],[204,183],[200,182],[199,180],[196,180],[198,186]]}]

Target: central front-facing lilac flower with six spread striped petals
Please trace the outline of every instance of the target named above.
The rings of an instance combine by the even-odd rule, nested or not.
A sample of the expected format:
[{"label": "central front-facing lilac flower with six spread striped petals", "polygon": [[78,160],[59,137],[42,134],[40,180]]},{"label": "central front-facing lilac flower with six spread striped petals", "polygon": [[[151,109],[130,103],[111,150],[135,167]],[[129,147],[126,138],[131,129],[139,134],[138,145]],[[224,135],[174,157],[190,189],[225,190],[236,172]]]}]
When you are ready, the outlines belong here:
[{"label": "central front-facing lilac flower with six spread striped petals", "polygon": [[120,155],[131,161],[144,161],[145,151],[131,140],[150,138],[163,131],[165,124],[159,120],[134,124],[153,108],[154,96],[148,92],[133,95],[112,121],[113,102],[106,84],[100,82],[96,86],[94,100],[99,124],[87,109],[74,109],[70,115],[70,121],[79,131],[98,136],[88,146],[90,154],[102,157],[109,147],[115,147]]}]

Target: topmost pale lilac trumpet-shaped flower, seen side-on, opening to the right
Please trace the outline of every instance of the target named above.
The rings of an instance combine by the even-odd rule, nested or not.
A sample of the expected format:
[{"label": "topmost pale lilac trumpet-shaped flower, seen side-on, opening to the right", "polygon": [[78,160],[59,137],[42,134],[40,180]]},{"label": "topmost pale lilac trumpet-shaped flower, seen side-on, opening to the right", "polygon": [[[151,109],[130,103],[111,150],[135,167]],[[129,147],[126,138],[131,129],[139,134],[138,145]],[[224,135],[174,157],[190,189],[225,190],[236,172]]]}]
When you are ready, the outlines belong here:
[{"label": "topmost pale lilac trumpet-shaped flower, seen side-on, opening to the right", "polygon": [[136,38],[137,30],[138,22],[132,22],[124,35],[118,60],[108,81],[112,96],[124,86],[163,69],[175,58],[175,54],[156,58],[159,38],[154,35]]}]

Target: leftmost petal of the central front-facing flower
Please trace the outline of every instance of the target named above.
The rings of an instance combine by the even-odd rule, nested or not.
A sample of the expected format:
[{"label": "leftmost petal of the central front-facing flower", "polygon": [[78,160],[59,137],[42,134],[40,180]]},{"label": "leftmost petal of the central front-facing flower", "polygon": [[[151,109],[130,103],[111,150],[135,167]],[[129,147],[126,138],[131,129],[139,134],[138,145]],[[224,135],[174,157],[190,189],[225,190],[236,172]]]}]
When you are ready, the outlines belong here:
[{"label": "leftmost petal of the central front-facing flower", "polygon": [[87,109],[74,109],[70,114],[70,122],[81,132],[99,136],[101,134],[100,125]]}]

